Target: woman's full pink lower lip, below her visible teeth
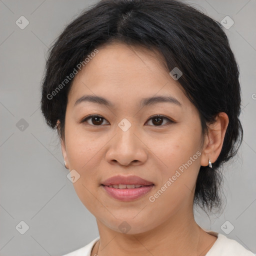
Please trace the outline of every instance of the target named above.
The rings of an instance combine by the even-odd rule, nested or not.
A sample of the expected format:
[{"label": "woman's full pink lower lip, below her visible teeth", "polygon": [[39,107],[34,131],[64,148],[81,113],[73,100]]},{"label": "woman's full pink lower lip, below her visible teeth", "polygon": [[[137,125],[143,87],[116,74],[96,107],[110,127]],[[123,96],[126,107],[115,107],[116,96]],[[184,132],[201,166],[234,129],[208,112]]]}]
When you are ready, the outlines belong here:
[{"label": "woman's full pink lower lip, below her visible teeth", "polygon": [[137,188],[114,188],[104,185],[101,186],[103,186],[105,191],[113,198],[121,201],[131,201],[148,193],[154,185],[152,184]]}]

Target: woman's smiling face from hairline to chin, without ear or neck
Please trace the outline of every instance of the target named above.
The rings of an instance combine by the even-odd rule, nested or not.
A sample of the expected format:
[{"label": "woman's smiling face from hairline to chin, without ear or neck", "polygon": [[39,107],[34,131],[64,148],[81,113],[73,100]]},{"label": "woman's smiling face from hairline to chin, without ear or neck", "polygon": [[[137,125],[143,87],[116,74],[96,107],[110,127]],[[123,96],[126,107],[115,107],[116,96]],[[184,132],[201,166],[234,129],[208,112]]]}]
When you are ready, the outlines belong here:
[{"label": "woman's smiling face from hairline to chin, without ear or neck", "polygon": [[[192,211],[202,135],[198,111],[180,88],[151,51],[117,43],[98,48],[75,75],[62,153],[80,175],[73,183],[78,197],[106,227],[140,233]],[[110,104],[81,100],[85,95]],[[170,100],[145,100],[151,97]],[[106,189],[102,184],[115,175],[153,185]],[[140,181],[126,183],[132,182]]]}]

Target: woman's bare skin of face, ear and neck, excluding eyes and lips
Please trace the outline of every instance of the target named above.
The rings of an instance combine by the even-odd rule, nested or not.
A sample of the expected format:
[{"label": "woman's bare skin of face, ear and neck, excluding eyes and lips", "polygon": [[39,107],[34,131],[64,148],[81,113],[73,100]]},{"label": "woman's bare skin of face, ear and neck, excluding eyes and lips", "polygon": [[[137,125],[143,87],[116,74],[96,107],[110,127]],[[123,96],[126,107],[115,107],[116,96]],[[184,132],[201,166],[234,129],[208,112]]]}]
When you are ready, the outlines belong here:
[{"label": "woman's bare skin of face, ear and neck, excluding eyes and lips", "polygon": [[[154,52],[141,46],[111,43],[74,77],[65,115],[65,135],[61,149],[66,166],[80,178],[74,189],[85,207],[95,216],[100,244],[98,255],[205,255],[216,237],[207,234],[194,220],[193,195],[200,165],[214,162],[221,150],[228,117],[224,112],[201,132],[199,114]],[[114,106],[75,101],[97,95]],[[172,96],[181,106],[160,102],[141,107],[142,98]],[[95,114],[103,117],[80,122]],[[173,120],[160,120],[160,114]],[[127,131],[118,123],[126,118]],[[203,143],[202,143],[203,142]],[[175,171],[199,151],[200,155],[184,169],[154,202],[156,193]],[[116,174],[137,175],[154,183],[151,191],[133,201],[110,197],[100,184]],[[130,230],[118,226],[126,221]],[[97,252],[98,243],[91,255]]]}]

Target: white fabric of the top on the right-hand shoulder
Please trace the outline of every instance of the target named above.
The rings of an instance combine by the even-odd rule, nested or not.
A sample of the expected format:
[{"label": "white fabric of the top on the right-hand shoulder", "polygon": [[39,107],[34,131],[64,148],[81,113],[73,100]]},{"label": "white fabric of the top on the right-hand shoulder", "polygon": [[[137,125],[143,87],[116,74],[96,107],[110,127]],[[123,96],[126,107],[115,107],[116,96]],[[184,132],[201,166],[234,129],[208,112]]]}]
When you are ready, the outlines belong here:
[{"label": "white fabric of the top on the right-hand shoulder", "polygon": [[221,233],[216,233],[213,231],[209,233],[217,234],[217,239],[205,256],[255,256],[254,253],[247,250],[236,240],[227,238]]}]

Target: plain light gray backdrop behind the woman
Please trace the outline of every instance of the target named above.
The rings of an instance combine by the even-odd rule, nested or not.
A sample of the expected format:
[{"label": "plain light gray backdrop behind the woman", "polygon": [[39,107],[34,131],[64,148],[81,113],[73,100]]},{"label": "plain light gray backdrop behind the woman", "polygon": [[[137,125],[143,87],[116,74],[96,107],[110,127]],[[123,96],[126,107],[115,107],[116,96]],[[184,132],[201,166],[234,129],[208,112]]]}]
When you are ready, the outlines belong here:
[{"label": "plain light gray backdrop behind the woman", "polygon": [[[94,216],[66,177],[57,134],[39,109],[49,45],[95,2],[0,0],[0,256],[61,255],[98,236]],[[225,235],[255,253],[256,0],[187,2],[215,20],[226,15],[234,20],[224,30],[240,68],[244,129],[238,155],[224,166],[223,209],[209,216],[195,209],[195,218],[201,227],[223,234],[232,224]],[[15,24],[21,15],[29,21],[24,29]],[[27,127],[20,126],[21,118]],[[24,234],[15,228],[21,220],[29,226]]]}]

